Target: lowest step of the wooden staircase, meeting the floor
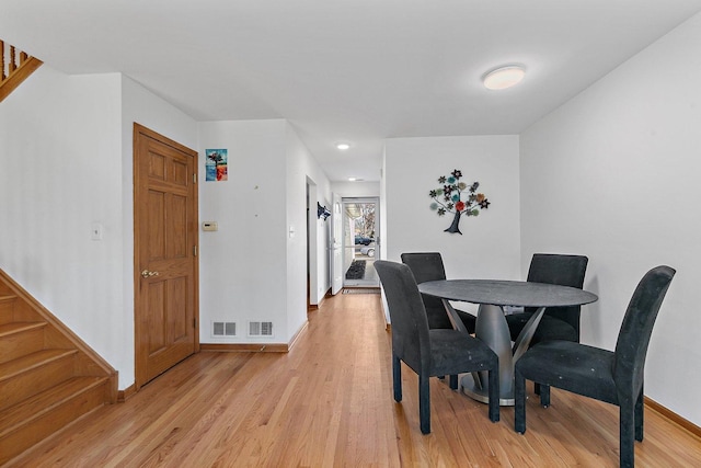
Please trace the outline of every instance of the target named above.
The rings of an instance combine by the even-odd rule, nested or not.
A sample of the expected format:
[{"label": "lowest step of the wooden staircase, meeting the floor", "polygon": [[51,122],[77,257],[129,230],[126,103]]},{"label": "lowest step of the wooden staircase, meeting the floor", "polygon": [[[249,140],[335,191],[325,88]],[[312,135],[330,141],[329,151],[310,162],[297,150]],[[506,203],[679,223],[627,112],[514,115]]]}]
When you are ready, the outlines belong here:
[{"label": "lowest step of the wooden staircase, meeting the floor", "polygon": [[0,411],[0,465],[105,402],[106,377],[72,377]]}]

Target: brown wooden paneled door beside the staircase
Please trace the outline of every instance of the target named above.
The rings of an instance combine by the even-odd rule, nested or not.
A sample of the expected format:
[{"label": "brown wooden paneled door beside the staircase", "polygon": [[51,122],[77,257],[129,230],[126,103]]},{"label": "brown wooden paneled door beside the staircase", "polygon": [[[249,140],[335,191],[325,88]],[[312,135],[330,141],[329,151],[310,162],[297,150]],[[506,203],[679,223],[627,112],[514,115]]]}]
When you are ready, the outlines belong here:
[{"label": "brown wooden paneled door beside the staircase", "polygon": [[197,152],[134,125],[136,388],[199,351]]}]

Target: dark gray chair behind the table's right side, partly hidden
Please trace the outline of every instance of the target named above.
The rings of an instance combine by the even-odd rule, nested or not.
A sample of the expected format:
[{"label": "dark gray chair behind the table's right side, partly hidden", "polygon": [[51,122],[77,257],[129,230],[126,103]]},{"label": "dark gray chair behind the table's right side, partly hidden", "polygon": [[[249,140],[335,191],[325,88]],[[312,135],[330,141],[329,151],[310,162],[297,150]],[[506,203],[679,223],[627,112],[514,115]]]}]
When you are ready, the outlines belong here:
[{"label": "dark gray chair behind the table's right side, partly hidden", "polygon": [[[528,277],[532,283],[548,283],[582,289],[588,259],[583,255],[562,255],[554,253],[536,253],[530,261]],[[581,306],[550,307],[545,309],[531,346],[547,340],[566,340],[579,342]],[[516,341],[535,308],[526,308],[522,312],[506,316],[512,341]]]}]

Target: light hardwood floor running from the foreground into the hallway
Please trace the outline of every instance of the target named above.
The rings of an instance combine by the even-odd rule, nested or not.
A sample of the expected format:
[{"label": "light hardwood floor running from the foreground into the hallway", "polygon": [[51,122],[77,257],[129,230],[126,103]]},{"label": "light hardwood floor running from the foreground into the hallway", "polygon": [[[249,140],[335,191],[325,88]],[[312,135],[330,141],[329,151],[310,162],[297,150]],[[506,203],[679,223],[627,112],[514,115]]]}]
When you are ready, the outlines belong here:
[{"label": "light hardwood floor running from the foreground into the hallway", "polygon": [[[379,295],[341,294],[309,315],[287,354],[202,352],[126,403],[97,410],[9,466],[616,467],[618,409],[552,390],[491,423],[486,406],[432,379],[433,432],[418,430],[417,379],[392,399]],[[701,440],[654,411],[639,467],[701,466]]]}]

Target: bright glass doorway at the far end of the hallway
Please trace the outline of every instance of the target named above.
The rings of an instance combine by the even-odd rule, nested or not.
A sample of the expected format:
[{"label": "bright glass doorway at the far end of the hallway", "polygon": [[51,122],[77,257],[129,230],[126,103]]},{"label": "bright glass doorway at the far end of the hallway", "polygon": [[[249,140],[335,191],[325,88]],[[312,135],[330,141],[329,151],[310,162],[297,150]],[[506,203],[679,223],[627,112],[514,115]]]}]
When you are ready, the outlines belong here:
[{"label": "bright glass doorway at the far end of the hallway", "polygon": [[343,198],[344,287],[378,287],[379,198]]}]

